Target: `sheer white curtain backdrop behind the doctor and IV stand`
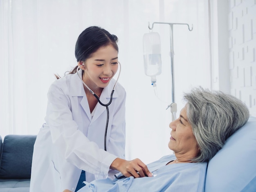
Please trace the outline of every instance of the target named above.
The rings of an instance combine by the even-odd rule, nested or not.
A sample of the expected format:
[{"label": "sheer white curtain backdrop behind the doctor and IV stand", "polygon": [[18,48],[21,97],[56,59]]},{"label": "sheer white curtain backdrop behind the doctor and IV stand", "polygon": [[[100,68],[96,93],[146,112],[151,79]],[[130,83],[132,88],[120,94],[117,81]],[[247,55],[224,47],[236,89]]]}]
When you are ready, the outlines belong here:
[{"label": "sheer white curtain backdrop behind the doctor and IV stand", "polygon": [[44,123],[47,90],[76,65],[79,34],[97,25],[119,38],[119,82],[127,92],[126,158],[149,163],[170,154],[171,64],[168,25],[155,24],[162,44],[162,74],[155,96],[144,74],[143,34],[153,22],[173,26],[177,116],[183,92],[211,88],[206,0],[0,0],[0,135],[37,134]]}]

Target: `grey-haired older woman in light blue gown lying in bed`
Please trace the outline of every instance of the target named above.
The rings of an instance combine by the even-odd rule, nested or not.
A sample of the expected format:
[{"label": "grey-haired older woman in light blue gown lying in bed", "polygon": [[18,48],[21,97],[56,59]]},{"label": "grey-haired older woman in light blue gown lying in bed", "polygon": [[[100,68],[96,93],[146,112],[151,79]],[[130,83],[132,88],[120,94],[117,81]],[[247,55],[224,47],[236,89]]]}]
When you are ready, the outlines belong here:
[{"label": "grey-haired older woman in light blue gown lying in bed", "polygon": [[152,177],[117,175],[87,183],[87,191],[203,191],[207,162],[249,118],[240,100],[222,92],[195,88],[184,94],[186,105],[170,123],[168,147],[174,154],[148,164]]}]

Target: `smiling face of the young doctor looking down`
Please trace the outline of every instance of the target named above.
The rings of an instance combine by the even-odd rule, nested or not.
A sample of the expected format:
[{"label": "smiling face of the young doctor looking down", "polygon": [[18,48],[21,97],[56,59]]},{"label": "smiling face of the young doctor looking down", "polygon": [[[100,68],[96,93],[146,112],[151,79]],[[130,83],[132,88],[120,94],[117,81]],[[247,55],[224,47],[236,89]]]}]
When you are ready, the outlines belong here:
[{"label": "smiling face of the young doctor looking down", "polygon": [[[79,63],[78,65],[81,65]],[[118,52],[112,46],[99,48],[85,63],[83,81],[90,89],[107,87],[118,69]]]}]

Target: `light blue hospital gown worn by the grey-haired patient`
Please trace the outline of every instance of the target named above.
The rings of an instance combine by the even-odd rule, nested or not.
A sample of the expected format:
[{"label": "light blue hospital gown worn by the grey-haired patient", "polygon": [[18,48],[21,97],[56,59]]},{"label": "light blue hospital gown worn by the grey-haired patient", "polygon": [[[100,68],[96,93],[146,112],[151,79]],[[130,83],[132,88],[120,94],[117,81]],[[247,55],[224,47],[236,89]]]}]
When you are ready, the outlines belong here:
[{"label": "light blue hospital gown worn by the grey-haired patient", "polygon": [[88,183],[79,192],[203,192],[207,163],[166,165],[175,159],[175,155],[167,155],[148,164],[154,177],[99,179]]}]

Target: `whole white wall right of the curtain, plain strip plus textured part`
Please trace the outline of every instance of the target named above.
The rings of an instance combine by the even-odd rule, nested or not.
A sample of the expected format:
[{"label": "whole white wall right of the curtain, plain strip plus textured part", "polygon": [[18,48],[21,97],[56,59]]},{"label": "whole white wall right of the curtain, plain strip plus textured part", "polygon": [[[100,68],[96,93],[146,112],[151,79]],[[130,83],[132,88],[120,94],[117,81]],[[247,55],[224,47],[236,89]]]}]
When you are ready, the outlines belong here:
[{"label": "whole white wall right of the curtain, plain strip plus textured part", "polygon": [[256,116],[256,1],[210,0],[211,87]]}]

